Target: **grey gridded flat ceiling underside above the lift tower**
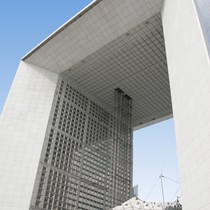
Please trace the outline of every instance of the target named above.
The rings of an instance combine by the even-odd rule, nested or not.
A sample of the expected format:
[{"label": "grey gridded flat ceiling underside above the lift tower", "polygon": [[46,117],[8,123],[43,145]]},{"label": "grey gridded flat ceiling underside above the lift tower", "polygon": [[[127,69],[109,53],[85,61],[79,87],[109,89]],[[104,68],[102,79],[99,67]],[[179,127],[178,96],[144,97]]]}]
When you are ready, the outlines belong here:
[{"label": "grey gridded flat ceiling underside above the lift tower", "polygon": [[161,14],[119,36],[63,73],[107,111],[119,87],[133,99],[133,126],[172,113]]}]

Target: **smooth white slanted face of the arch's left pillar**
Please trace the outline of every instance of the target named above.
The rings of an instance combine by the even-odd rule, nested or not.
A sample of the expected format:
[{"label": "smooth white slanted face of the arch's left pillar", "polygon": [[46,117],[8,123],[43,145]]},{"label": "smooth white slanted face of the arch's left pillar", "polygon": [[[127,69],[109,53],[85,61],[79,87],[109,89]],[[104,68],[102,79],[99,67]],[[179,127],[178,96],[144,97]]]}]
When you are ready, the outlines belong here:
[{"label": "smooth white slanted face of the arch's left pillar", "polygon": [[28,209],[58,75],[21,62],[0,121],[0,209]]}]

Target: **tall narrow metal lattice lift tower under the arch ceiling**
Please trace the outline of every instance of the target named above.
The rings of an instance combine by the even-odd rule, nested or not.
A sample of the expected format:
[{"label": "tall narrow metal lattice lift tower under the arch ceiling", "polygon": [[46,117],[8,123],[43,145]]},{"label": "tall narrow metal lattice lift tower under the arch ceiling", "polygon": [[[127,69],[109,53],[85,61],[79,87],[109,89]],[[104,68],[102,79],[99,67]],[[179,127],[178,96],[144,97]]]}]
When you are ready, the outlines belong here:
[{"label": "tall narrow metal lattice lift tower under the arch ceiling", "polygon": [[[115,89],[113,148],[113,195],[112,206],[122,202],[132,192],[132,100],[120,88]],[[122,190],[124,189],[124,190]]]}]

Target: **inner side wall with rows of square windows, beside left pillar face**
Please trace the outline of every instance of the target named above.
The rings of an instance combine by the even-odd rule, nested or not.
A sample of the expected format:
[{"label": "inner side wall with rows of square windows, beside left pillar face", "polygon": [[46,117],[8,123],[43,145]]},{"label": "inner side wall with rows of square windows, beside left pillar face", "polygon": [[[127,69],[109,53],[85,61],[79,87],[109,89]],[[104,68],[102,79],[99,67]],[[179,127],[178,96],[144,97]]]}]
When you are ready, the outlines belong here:
[{"label": "inner side wall with rows of square windows, beside left pillar face", "polygon": [[[59,79],[31,209],[104,210],[129,198],[130,138],[128,128],[122,124],[117,131],[115,123],[111,114]],[[116,156],[111,136],[117,132]]]}]

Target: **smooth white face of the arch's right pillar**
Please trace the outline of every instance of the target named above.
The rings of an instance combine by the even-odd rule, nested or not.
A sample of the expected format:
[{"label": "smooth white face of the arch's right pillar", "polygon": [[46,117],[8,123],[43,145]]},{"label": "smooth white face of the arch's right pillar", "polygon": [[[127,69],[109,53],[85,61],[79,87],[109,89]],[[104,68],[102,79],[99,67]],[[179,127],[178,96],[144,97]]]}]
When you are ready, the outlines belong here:
[{"label": "smooth white face of the arch's right pillar", "polygon": [[162,11],[183,209],[210,209],[210,60],[193,0]]}]

